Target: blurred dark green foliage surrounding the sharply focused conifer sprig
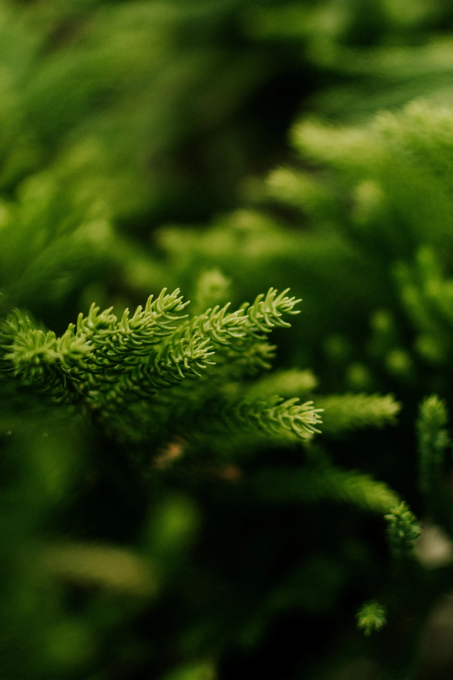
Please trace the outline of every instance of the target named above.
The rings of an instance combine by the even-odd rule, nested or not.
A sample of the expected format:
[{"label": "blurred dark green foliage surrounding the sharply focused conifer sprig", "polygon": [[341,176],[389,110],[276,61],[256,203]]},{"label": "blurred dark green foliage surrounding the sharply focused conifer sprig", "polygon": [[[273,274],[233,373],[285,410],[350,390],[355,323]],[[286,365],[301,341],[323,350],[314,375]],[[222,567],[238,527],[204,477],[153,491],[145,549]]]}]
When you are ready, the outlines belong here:
[{"label": "blurred dark green foliage surrounding the sharply focused conifer sprig", "polygon": [[[420,494],[414,421],[452,404],[452,75],[446,0],[1,0],[2,316],[60,333],[163,286],[201,308],[213,269],[236,305],[291,286],[276,367],[320,404],[395,393],[397,427],[352,435],[325,397],[323,447],[446,558],[389,588],[379,518],[300,504],[285,475],[249,497],[235,466],[143,479],[87,413],[2,378],[2,677],[451,677],[452,514]],[[381,594],[395,620],[365,639]]]}]

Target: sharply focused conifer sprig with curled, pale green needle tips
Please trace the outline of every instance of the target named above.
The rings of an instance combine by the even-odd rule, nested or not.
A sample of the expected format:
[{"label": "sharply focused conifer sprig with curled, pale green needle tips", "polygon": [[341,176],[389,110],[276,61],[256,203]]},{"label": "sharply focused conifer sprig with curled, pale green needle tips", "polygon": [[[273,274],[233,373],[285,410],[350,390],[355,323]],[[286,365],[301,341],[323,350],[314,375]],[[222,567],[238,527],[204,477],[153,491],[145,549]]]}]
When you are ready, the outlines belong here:
[{"label": "sharply focused conifer sprig with curled, pale green needle tips", "polygon": [[[1,327],[1,367],[22,384],[51,388],[59,398],[81,398],[108,424],[118,409],[122,410],[120,420],[134,420],[129,406],[137,401],[145,400],[144,413],[153,410],[156,403],[151,403],[151,397],[156,392],[189,375],[200,379],[206,368],[219,361],[217,381],[202,381],[198,397],[192,382],[190,394],[166,392],[164,420],[178,413],[183,422],[190,405],[202,409],[230,374],[268,367],[273,347],[266,335],[275,326],[289,325],[283,319],[285,314],[298,313],[294,307],[299,301],[289,298],[287,292],[277,294],[270,288],[253,305],[244,303],[232,312],[229,304],[216,305],[189,319],[181,315],[188,303],[183,302],[179,288],[170,294],[164,288],[157,299],[150,296],[145,307],[137,307],[132,316],[126,309],[119,321],[111,307],[100,311],[93,304],[88,316],[80,314],[77,325],[70,324],[60,338],[14,311]],[[214,378],[215,372],[210,377]],[[319,431],[315,426],[320,422],[320,409],[314,409],[312,403],[296,405],[297,401],[283,402],[272,396],[267,401],[232,404],[222,398],[221,420],[232,419],[236,426],[272,434],[288,431],[297,437],[311,436]]]}]

